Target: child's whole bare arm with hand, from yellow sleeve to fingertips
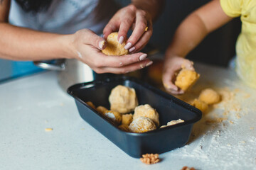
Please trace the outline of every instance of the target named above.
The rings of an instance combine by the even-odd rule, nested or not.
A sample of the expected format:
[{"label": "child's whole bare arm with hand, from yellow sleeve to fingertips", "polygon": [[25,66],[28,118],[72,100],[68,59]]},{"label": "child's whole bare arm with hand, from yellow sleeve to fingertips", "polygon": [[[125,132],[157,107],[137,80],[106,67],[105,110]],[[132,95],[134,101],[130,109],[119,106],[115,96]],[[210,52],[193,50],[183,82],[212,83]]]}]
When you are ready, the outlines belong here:
[{"label": "child's whole bare arm with hand, from yellow sleeve to fingertips", "polygon": [[163,83],[167,91],[172,94],[183,94],[174,85],[175,72],[181,69],[181,65],[193,69],[193,63],[183,59],[191,52],[203,38],[211,31],[220,28],[232,18],[227,16],[220,6],[219,0],[210,1],[205,6],[191,13],[178,26],[171,44],[166,50],[164,61]]}]

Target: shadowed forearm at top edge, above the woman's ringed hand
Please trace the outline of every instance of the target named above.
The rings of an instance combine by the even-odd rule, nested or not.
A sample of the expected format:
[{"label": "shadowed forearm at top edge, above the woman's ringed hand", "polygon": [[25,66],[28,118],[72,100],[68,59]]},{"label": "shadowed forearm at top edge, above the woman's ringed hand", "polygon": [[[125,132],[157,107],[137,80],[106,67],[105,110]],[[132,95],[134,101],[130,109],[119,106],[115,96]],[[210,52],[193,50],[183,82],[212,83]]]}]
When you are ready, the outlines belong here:
[{"label": "shadowed forearm at top edge, above the woman's ringed hand", "polygon": [[164,4],[163,0],[132,0],[132,4],[137,8],[141,8],[151,15],[152,21],[156,18],[162,11]]}]

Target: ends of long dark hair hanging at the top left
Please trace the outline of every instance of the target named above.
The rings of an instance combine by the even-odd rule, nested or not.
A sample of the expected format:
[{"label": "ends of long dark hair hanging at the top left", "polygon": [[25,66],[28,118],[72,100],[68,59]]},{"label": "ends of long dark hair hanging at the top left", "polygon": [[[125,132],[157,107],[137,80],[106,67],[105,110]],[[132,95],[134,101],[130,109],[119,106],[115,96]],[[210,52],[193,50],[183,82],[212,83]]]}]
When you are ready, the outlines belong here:
[{"label": "ends of long dark hair hanging at the top left", "polygon": [[36,13],[47,10],[53,0],[16,0],[26,12]]}]

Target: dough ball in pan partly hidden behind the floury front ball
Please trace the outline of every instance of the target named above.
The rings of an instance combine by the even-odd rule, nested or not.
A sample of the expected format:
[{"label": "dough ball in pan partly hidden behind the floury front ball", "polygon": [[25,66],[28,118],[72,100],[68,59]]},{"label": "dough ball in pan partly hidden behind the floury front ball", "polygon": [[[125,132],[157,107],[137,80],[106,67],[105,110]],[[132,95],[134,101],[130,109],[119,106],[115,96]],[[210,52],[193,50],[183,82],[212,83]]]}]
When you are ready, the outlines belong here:
[{"label": "dough ball in pan partly hidden behind the floury front ball", "polygon": [[156,124],[156,127],[159,127],[159,113],[157,113],[154,108],[151,108],[149,104],[137,106],[135,108],[133,118],[137,119],[141,116],[150,118]]}]

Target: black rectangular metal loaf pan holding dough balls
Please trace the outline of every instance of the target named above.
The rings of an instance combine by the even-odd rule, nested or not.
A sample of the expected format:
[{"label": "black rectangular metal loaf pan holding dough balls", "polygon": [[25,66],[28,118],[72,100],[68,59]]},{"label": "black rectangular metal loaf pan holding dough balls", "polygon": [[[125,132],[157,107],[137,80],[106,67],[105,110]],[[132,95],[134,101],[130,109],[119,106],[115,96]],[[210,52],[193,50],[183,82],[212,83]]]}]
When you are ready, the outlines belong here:
[{"label": "black rectangular metal loaf pan holding dough balls", "polygon": [[[92,101],[95,106],[110,109],[108,97],[111,90],[119,84],[135,89],[139,105],[149,104],[155,108],[159,113],[160,125],[179,118],[185,122],[144,133],[119,130],[117,125],[85,103]],[[131,77],[113,77],[75,84],[68,88],[68,94],[75,98],[80,116],[131,157],[141,157],[146,153],[160,154],[183,147],[188,142],[193,124],[202,116],[201,111],[188,103]]]}]

